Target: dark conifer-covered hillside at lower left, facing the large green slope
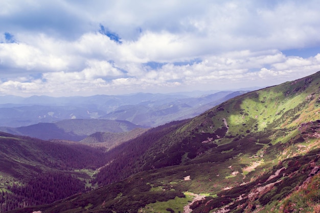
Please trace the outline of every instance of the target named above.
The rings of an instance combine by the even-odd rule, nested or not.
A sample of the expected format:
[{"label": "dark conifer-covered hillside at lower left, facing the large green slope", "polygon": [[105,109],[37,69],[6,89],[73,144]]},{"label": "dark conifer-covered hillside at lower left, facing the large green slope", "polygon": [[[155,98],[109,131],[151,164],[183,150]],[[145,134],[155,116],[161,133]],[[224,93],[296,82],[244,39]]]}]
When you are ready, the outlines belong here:
[{"label": "dark conifer-covered hillside at lower left, facing the large green slope", "polygon": [[0,211],[48,204],[93,188],[85,171],[105,163],[103,148],[1,133]]}]

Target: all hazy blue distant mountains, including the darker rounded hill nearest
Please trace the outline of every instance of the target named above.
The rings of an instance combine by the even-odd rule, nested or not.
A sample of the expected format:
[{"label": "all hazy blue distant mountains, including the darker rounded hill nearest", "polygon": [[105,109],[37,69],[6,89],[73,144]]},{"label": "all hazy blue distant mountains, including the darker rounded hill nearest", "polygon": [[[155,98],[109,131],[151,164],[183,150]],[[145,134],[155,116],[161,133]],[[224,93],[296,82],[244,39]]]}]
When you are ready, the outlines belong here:
[{"label": "all hazy blue distant mountains, including the darker rounded hill nearest", "polygon": [[0,131],[79,141],[96,132],[126,132],[187,119],[245,92],[186,93],[196,97],[151,93],[68,98],[5,96],[0,97]]}]

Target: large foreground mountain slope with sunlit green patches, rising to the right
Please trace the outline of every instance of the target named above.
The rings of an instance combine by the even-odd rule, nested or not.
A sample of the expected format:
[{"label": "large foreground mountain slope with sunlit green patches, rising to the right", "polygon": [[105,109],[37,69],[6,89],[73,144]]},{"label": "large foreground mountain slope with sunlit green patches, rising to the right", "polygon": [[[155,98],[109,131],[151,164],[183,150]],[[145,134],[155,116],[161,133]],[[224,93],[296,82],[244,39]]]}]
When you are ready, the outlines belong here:
[{"label": "large foreground mountain slope with sunlit green patches, rising to the right", "polygon": [[109,150],[100,187],[11,212],[318,212],[320,72]]}]

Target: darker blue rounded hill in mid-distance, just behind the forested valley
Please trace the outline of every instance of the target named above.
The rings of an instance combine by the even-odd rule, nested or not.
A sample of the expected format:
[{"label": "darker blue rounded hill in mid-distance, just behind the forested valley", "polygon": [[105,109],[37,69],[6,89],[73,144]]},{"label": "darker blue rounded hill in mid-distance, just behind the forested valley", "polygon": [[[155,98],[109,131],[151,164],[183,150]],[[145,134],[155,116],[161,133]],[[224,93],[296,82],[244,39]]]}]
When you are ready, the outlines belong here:
[{"label": "darker blue rounded hill in mid-distance, just behind the forested valley", "polygon": [[43,140],[62,139],[79,141],[96,132],[127,132],[142,126],[127,121],[103,119],[70,119],[54,123],[39,123],[26,127],[0,127],[0,131],[27,135]]}]

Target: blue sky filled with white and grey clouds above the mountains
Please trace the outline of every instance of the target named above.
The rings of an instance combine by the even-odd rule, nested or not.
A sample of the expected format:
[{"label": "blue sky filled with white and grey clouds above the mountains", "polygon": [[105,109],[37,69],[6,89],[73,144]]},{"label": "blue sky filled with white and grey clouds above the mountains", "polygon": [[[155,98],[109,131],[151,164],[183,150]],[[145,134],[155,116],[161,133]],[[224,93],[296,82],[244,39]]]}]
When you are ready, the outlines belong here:
[{"label": "blue sky filled with white and grey clouds above the mountains", "polygon": [[266,87],[320,70],[318,0],[1,0],[0,96]]}]

